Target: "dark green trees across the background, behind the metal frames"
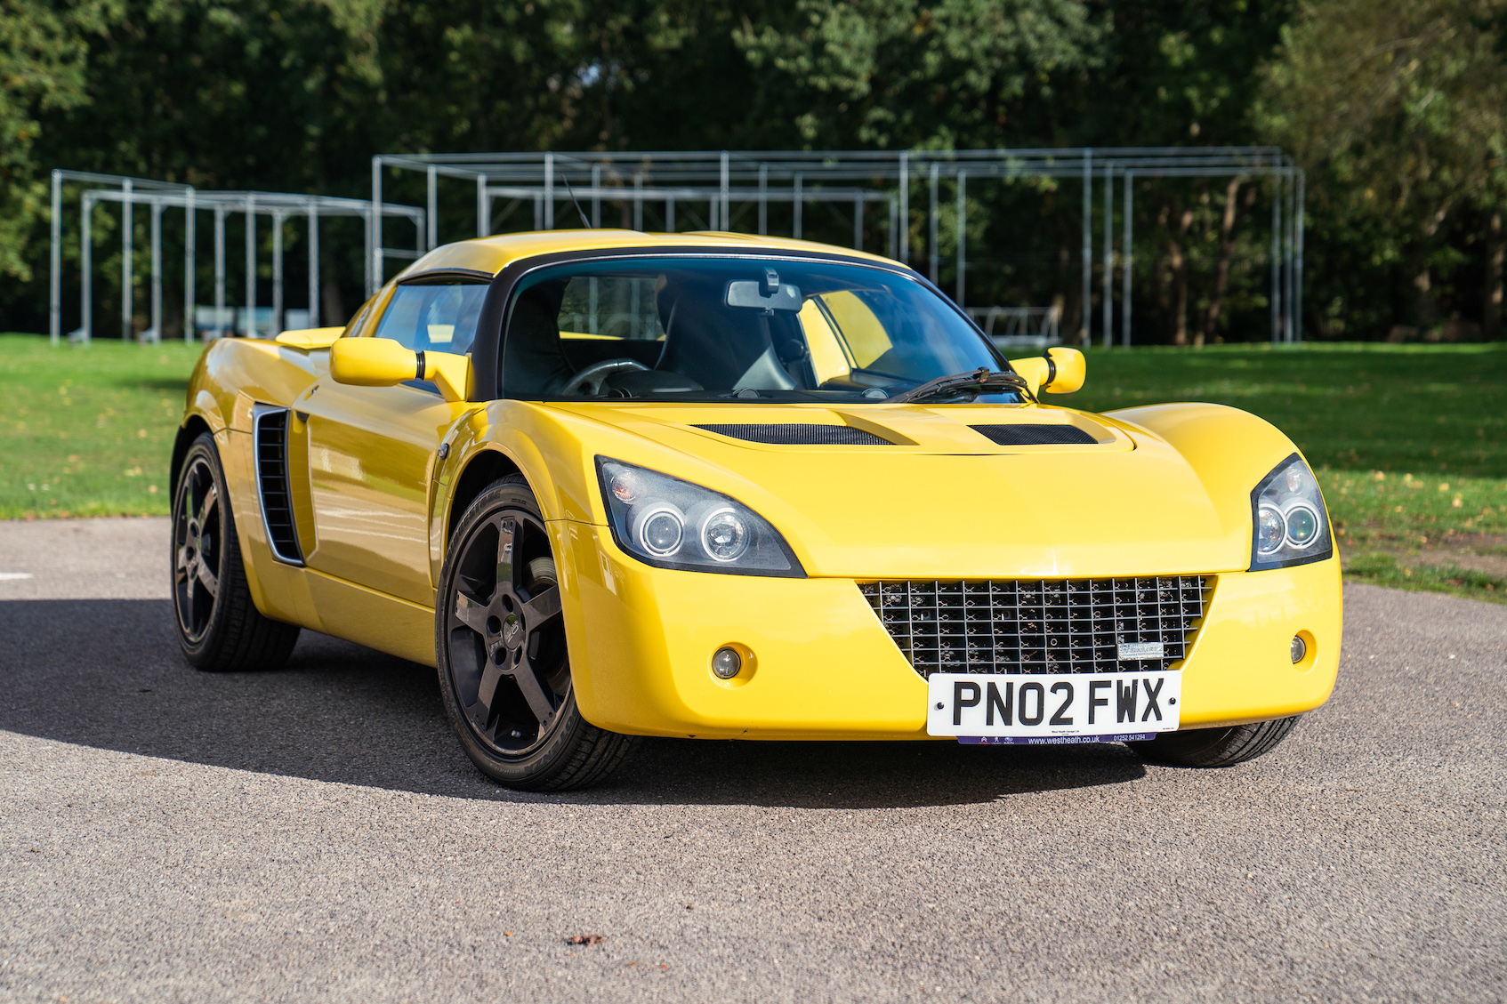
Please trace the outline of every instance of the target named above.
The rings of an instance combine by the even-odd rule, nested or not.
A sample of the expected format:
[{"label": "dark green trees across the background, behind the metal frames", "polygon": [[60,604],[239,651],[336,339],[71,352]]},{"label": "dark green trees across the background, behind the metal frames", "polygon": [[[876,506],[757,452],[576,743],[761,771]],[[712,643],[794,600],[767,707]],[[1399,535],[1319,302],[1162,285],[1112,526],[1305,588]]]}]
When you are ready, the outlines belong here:
[{"label": "dark green trees across the background, behind the metal frames", "polygon": [[[363,196],[387,151],[1275,142],[1310,170],[1310,330],[1495,332],[1504,5],[0,0],[0,327],[45,321],[51,167]],[[1097,311],[1076,182],[969,205],[972,302]],[[1264,333],[1267,205],[1252,178],[1138,182],[1138,338]],[[327,247],[350,298],[360,252]]]}]

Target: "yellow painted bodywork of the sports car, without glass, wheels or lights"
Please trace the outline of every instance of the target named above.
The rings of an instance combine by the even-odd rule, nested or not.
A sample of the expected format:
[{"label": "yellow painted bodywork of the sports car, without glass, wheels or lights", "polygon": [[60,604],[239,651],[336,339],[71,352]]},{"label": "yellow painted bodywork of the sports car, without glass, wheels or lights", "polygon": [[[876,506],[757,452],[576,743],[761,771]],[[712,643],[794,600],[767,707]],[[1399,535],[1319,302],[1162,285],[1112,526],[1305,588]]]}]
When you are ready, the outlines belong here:
[{"label": "yellow painted bodywork of the sports car, without glass, wheels or lights", "polygon": [[[408,271],[496,273],[561,250],[750,244],[835,250],[741,235],[558,231],[445,246]],[[347,338],[375,330],[392,289],[362,308]],[[851,314],[841,302],[827,308]],[[850,335],[864,330],[862,318],[842,320]],[[803,321],[830,330],[820,315]],[[925,737],[925,683],[859,592],[857,582],[873,579],[1210,574],[1213,598],[1183,663],[1185,727],[1295,715],[1334,686],[1338,559],[1246,571],[1249,493],[1295,448],[1243,412],[494,401],[479,399],[487,395],[470,386],[470,366],[454,356],[443,395],[336,383],[330,339],[319,330],[280,344],[216,342],[188,390],[185,428],[202,422],[216,434],[252,594],[268,617],[434,665],[436,583],[455,507],[466,500],[455,493],[463,472],[490,454],[521,472],[538,497],[561,573],[577,699],[588,721],[609,730]],[[842,342],[833,333],[818,362],[841,371],[873,351],[856,335]],[[1047,374],[1035,362],[1032,383]],[[1079,369],[1061,375],[1081,380]],[[259,519],[256,404],[291,410],[289,493],[303,565],[273,555]],[[851,425],[891,446],[772,446],[695,428],[760,421]],[[1094,445],[1005,448],[969,428],[1008,422],[1070,424]],[[607,529],[597,457],[738,499],[785,537],[808,577],[674,571],[625,555]],[[1308,656],[1293,666],[1288,642],[1299,632]],[[749,668],[719,681],[708,660],[728,644]]]}]

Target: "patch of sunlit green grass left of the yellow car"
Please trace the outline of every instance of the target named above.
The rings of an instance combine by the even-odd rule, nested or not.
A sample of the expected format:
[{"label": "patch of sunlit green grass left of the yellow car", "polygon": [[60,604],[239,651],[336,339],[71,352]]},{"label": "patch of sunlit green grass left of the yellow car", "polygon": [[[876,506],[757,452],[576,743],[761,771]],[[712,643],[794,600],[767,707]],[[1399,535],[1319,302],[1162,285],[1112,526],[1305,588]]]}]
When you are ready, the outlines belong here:
[{"label": "patch of sunlit green grass left of the yellow car", "polygon": [[0,519],[166,516],[199,351],[0,335]]}]

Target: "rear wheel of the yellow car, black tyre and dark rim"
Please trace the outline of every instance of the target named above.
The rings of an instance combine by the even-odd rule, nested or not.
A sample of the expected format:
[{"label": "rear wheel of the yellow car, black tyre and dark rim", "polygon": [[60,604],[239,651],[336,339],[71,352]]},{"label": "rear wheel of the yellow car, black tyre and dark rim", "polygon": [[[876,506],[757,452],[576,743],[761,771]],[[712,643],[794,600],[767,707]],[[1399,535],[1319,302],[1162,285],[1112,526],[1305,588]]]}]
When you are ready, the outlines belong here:
[{"label": "rear wheel of the yellow car, black tyre and dark rim", "polygon": [[256,609],[246,583],[235,514],[214,436],[184,455],[173,490],[173,626],[184,656],[206,672],[277,669],[298,642],[298,626]]}]

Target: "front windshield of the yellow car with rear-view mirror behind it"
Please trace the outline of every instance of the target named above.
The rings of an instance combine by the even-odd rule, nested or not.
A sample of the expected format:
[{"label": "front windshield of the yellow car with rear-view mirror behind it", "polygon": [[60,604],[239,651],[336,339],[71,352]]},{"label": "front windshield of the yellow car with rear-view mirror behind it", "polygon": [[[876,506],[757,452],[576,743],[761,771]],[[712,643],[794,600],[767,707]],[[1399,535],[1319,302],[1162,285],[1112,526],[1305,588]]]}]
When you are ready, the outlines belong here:
[{"label": "front windshield of the yellow car with rear-view mirror behind it", "polygon": [[541,268],[520,282],[502,351],[503,396],[535,401],[883,401],[937,377],[1005,368],[977,327],[915,279],[763,256]]}]

